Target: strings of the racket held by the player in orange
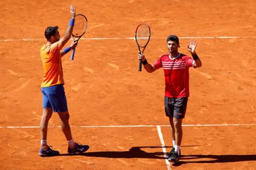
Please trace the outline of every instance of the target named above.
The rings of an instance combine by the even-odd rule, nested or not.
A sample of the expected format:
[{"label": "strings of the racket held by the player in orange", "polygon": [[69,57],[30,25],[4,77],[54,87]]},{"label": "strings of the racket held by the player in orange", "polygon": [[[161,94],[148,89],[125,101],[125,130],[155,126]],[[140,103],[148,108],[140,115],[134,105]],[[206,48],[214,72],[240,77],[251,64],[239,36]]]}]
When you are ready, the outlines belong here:
[{"label": "strings of the racket held by the player in orange", "polygon": [[87,20],[83,16],[76,16],[74,22],[73,35],[76,37],[80,37],[85,33],[87,29]]}]

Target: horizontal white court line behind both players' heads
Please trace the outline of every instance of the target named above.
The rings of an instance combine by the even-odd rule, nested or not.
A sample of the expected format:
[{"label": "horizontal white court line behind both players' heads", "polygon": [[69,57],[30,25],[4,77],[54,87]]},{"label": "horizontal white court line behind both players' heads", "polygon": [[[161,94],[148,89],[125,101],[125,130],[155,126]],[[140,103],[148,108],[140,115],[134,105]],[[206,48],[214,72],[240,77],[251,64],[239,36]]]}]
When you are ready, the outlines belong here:
[{"label": "horizontal white court line behind both players' heads", "polygon": [[[151,39],[165,39],[166,37],[151,37]],[[212,37],[179,37],[180,39],[251,39],[256,36],[212,36]],[[134,39],[134,37],[98,37],[98,38],[81,38],[81,40],[119,40]],[[44,41],[45,39],[0,39],[0,41]]]}]

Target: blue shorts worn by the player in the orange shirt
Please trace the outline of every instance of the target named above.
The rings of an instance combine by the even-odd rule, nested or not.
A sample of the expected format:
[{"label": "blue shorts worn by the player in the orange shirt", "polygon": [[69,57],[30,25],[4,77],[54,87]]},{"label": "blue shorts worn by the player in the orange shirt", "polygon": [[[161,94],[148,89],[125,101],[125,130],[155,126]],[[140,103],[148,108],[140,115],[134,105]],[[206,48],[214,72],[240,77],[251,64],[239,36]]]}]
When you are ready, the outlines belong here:
[{"label": "blue shorts worn by the player in the orange shirt", "polygon": [[51,107],[54,112],[68,111],[68,104],[63,84],[41,87],[41,91],[43,108]]}]

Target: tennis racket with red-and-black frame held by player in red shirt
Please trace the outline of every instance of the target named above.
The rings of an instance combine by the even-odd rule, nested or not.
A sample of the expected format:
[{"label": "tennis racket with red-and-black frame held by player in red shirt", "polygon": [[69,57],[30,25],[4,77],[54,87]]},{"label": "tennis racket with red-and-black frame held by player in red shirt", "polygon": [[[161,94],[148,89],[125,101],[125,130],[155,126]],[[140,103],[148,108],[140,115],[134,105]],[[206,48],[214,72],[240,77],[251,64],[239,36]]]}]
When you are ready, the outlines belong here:
[{"label": "tennis racket with red-and-black frame held by player in red shirt", "polygon": [[[139,53],[143,54],[147,44],[150,41],[150,26],[145,23],[139,24],[135,31],[135,41],[139,48]],[[141,71],[141,59],[139,59],[139,71]]]}]

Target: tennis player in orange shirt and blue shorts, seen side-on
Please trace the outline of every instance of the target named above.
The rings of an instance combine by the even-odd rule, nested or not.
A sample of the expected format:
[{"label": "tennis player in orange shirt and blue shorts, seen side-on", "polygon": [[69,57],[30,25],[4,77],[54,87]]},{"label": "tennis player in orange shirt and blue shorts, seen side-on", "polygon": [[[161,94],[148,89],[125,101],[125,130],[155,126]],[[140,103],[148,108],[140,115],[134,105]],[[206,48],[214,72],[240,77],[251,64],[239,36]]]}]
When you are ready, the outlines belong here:
[{"label": "tennis player in orange shirt and blue shorts, seen side-on", "polygon": [[42,91],[42,120],[40,122],[41,129],[41,148],[39,151],[40,156],[56,156],[59,151],[53,150],[48,146],[46,137],[48,129],[48,121],[50,120],[53,112],[59,114],[61,119],[61,129],[68,141],[68,153],[76,154],[83,153],[89,149],[89,146],[79,145],[74,142],[68,122],[70,115],[68,113],[68,104],[66,100],[65,91],[63,88],[63,70],[61,64],[61,57],[70,52],[77,43],[72,41],[70,46],[63,48],[72,35],[74,27],[74,19],[76,16],[76,8],[70,5],[70,22],[66,29],[65,35],[60,38],[58,27],[47,27],[44,35],[46,37],[46,44],[42,46],[40,55],[42,65],[44,67],[44,75],[41,84]]}]

